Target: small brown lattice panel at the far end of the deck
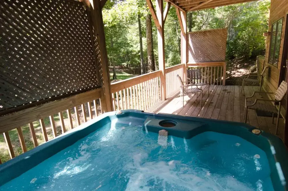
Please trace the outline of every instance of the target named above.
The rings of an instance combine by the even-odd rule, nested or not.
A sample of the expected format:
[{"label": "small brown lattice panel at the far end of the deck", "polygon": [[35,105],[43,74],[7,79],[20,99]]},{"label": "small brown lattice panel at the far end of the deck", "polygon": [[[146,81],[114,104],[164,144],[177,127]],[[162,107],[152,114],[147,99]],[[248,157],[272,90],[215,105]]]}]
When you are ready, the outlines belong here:
[{"label": "small brown lattice panel at the far end of the deck", "polygon": [[188,33],[188,63],[224,61],[226,40],[226,29]]}]

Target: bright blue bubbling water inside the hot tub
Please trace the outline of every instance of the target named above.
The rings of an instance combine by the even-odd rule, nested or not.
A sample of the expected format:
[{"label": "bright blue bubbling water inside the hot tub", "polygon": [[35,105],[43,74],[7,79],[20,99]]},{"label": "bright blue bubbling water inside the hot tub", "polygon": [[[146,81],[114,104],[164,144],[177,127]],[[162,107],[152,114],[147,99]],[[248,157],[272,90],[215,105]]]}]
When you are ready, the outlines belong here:
[{"label": "bright blue bubbling water inside the hot tub", "polygon": [[[260,157],[261,156],[261,157]],[[110,124],[0,190],[273,190],[264,151],[226,134],[163,137]]]}]

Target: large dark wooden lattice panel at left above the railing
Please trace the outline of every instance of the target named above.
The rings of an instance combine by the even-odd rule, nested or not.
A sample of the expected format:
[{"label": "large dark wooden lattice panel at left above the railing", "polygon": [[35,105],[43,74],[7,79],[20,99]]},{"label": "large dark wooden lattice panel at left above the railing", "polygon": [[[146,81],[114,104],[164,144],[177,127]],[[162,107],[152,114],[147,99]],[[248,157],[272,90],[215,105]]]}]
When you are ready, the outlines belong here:
[{"label": "large dark wooden lattice panel at left above the railing", "polygon": [[0,1],[0,111],[98,86],[89,15],[73,0]]}]

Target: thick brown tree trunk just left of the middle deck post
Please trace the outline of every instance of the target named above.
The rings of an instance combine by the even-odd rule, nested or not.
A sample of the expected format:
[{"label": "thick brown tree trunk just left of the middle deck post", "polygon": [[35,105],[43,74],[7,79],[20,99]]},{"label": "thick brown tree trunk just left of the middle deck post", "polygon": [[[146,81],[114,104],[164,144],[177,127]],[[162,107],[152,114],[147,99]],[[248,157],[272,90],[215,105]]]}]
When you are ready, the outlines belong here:
[{"label": "thick brown tree trunk just left of the middle deck post", "polygon": [[146,16],[146,37],[147,37],[147,56],[148,56],[148,72],[155,71],[154,51],[153,51],[153,35],[151,14]]}]

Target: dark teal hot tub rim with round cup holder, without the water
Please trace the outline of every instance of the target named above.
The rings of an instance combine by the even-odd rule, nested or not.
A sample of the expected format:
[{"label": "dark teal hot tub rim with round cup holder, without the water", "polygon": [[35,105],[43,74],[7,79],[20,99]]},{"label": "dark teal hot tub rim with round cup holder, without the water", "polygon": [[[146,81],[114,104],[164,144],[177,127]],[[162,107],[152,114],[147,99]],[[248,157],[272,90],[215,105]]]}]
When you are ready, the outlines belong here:
[{"label": "dark teal hot tub rim with round cup holder, without the water", "polygon": [[[69,147],[79,139],[101,128],[112,120],[117,123],[143,126],[144,131],[158,132],[165,129],[169,135],[190,139],[193,136],[206,131],[218,132],[239,136],[262,149],[268,158],[271,180],[274,190],[288,190],[286,179],[288,178],[288,153],[280,138],[269,133],[253,134],[255,127],[245,123],[186,117],[179,115],[144,113],[139,110],[124,110],[105,113],[96,119],[74,128],[73,130],[58,136],[47,143],[0,165],[0,186],[18,177],[22,173],[43,162],[59,151]],[[163,122],[173,123],[173,127],[160,126]]]}]

